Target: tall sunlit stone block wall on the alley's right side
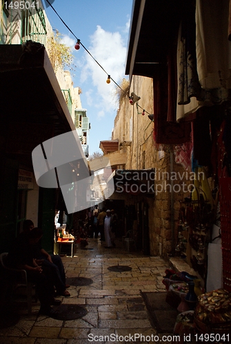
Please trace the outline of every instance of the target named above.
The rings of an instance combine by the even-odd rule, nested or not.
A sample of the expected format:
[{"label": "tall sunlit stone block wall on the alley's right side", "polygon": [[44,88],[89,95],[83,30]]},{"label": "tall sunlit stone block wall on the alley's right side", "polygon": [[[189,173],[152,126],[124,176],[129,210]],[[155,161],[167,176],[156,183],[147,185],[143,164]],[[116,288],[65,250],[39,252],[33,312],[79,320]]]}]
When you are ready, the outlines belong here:
[{"label": "tall sunlit stone block wall on the alley's right side", "polygon": [[[134,200],[134,197],[127,197],[125,202],[130,204],[143,200],[148,204],[150,254],[167,257],[177,245],[179,206],[187,195],[181,184],[185,182],[188,185],[189,182],[185,180],[183,166],[174,162],[174,153],[171,171],[170,151],[157,150],[153,136],[154,122],[146,112],[142,116],[143,109],[149,114],[154,111],[152,78],[133,76],[131,92],[141,97],[139,106],[130,105],[129,98],[123,99],[114,119],[112,140],[118,139],[119,145],[123,144],[123,147],[127,143],[128,160],[125,169],[156,169],[157,173],[154,198],[142,195]],[[187,187],[184,189],[187,190]]]}]

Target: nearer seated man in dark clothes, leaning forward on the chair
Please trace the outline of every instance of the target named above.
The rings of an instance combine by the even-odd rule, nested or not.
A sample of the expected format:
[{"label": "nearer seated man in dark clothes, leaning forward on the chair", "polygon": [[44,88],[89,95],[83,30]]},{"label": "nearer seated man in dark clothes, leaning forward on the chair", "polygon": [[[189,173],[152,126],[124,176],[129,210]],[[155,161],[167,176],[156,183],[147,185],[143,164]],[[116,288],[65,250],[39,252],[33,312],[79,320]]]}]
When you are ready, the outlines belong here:
[{"label": "nearer seated man in dark clothes, leaning forward on the chair", "polygon": [[53,316],[56,314],[50,307],[61,302],[54,299],[54,286],[50,274],[43,272],[34,260],[34,245],[41,239],[42,230],[34,228],[30,233],[21,233],[13,242],[8,252],[6,265],[10,268],[26,270],[28,280],[35,284],[36,292],[41,303],[40,314]]}]

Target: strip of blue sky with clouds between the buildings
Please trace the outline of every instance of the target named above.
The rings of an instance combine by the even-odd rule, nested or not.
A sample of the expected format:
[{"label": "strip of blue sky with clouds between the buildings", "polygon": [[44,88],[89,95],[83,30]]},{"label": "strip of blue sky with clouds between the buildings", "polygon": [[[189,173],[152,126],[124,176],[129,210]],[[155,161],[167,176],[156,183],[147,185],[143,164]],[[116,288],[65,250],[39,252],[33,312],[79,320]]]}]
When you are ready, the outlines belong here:
[{"label": "strip of blue sky with clouds between the buildings", "polygon": [[[45,1],[45,0],[44,0]],[[98,63],[120,85],[125,76],[132,0],[54,0],[59,16],[81,40]],[[83,49],[74,50],[76,39],[52,8],[46,8],[52,28],[72,47],[74,87],[81,87],[81,103],[90,118],[90,154],[101,152],[99,142],[110,140],[117,114],[116,85],[106,83],[107,74]]]}]

